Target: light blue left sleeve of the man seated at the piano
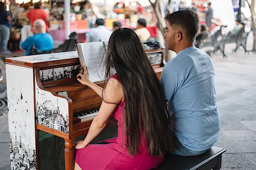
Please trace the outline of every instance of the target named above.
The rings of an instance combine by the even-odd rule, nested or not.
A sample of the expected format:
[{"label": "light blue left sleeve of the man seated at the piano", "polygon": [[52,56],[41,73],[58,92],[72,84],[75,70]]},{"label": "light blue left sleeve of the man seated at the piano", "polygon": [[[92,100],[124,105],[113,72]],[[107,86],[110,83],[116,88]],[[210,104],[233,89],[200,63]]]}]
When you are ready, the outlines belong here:
[{"label": "light blue left sleeve of the man seated at the piano", "polygon": [[183,71],[174,63],[165,64],[161,74],[160,84],[164,90],[166,100],[171,100],[179,87],[184,82],[185,76]]}]

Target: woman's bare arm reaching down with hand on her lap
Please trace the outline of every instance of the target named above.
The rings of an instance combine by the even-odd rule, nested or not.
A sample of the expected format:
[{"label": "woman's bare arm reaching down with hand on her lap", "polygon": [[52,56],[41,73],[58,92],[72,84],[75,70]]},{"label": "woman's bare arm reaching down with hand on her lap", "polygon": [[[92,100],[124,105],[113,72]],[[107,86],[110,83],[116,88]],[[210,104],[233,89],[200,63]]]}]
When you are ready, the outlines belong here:
[{"label": "woman's bare arm reaching down with hand on her lap", "polygon": [[[122,85],[114,78],[108,80],[99,113],[93,119],[87,136],[83,141],[76,142],[76,149],[86,147],[106,127],[108,118],[116,109],[118,103],[124,99]],[[116,104],[112,104],[116,103]]]}]

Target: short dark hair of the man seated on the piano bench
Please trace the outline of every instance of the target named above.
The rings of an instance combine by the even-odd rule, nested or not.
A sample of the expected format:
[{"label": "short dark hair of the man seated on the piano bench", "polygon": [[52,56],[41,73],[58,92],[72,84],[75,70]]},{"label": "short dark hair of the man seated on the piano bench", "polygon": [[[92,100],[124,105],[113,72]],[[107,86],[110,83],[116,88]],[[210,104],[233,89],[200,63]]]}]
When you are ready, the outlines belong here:
[{"label": "short dark hair of the man seated on the piano bench", "polygon": [[199,18],[195,11],[191,9],[167,13],[164,17],[173,30],[183,32],[190,41],[194,41],[199,30]]}]

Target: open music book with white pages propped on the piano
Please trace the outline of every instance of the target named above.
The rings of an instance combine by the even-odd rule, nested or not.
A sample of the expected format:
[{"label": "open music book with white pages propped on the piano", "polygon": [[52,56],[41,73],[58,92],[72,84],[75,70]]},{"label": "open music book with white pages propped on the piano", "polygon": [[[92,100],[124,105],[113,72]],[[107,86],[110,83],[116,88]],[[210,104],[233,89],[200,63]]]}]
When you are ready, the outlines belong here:
[{"label": "open music book with white pages propped on the piano", "polygon": [[92,82],[104,80],[108,41],[76,44],[81,68],[87,67]]}]

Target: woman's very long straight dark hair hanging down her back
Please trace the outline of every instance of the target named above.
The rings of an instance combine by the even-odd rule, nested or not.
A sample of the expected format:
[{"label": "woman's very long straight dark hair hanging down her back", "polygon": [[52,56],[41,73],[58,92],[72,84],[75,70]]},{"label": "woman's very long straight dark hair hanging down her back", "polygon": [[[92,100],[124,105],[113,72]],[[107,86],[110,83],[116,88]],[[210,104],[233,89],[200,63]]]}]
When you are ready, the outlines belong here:
[{"label": "woman's very long straight dark hair hanging down her back", "polygon": [[141,137],[147,140],[152,156],[172,150],[171,121],[164,92],[134,31],[119,28],[112,33],[105,67],[105,82],[113,75],[114,68],[123,86],[129,154],[139,153]]}]

